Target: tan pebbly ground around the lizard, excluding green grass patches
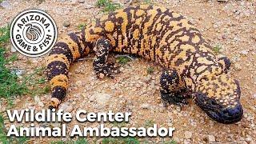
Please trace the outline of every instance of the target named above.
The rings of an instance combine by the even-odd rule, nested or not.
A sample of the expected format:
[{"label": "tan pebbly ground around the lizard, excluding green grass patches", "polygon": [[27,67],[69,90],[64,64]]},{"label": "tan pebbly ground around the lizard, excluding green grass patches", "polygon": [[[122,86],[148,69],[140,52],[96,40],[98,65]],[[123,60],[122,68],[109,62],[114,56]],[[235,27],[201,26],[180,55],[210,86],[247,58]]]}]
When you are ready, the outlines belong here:
[{"label": "tan pebbly ground around the lizard, excluding green grass patches", "polygon": [[[158,126],[173,126],[174,141],[178,143],[255,143],[256,142],[256,1],[255,0],[158,0],[157,5],[166,6],[190,19],[202,30],[202,34],[212,46],[222,49],[232,60],[230,74],[241,84],[244,118],[233,125],[223,125],[212,121],[202,110],[190,101],[187,106],[164,108],[159,98],[159,75],[161,68],[152,62],[135,58],[121,67],[117,80],[98,80],[93,72],[91,55],[78,61],[70,69],[70,87],[60,106],[75,113],[87,111],[131,111],[131,120],[126,126],[145,126],[149,122]],[[123,6],[136,2],[118,1]],[[46,0],[44,1],[4,1],[0,7],[0,26],[10,23],[22,10],[37,8],[46,10],[58,25],[59,34],[78,30],[78,26],[103,13],[94,1],[86,0]],[[10,46],[11,47],[11,46]],[[11,53],[11,52],[10,52]],[[114,57],[114,56],[113,56]],[[30,73],[35,67],[43,66],[42,58],[26,58],[11,64]],[[30,63],[30,65],[28,65]],[[148,67],[154,67],[153,74],[147,74]],[[14,102],[15,109],[46,108],[50,94],[35,97],[22,96]],[[0,106],[5,109],[5,105]],[[69,123],[69,127],[77,122]],[[83,126],[97,126],[97,123],[82,123]],[[66,139],[66,138],[62,138]],[[141,141],[164,142],[170,138],[139,138]],[[36,142],[49,142],[51,138],[34,138]],[[90,140],[90,139],[89,139]],[[100,140],[98,140],[100,142]]]}]

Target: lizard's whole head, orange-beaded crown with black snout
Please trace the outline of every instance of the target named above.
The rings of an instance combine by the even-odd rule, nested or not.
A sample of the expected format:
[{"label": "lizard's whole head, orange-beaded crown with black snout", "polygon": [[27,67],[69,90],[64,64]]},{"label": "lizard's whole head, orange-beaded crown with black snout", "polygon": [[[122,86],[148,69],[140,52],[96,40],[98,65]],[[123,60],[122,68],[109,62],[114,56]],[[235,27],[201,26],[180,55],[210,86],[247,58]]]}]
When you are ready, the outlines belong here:
[{"label": "lizard's whole head, orange-beaded crown with black snout", "polygon": [[202,79],[196,86],[194,102],[210,118],[221,123],[234,123],[242,119],[241,95],[238,81],[226,74]]}]

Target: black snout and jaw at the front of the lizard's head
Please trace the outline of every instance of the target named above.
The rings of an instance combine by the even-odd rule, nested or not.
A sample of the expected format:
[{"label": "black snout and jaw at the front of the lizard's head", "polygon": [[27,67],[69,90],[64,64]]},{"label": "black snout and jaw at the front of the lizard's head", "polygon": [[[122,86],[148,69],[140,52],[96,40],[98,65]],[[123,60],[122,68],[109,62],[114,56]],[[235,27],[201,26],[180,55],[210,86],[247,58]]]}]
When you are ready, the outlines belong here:
[{"label": "black snout and jaw at the front of the lizard's head", "polygon": [[218,104],[214,98],[208,98],[202,93],[196,94],[194,102],[216,122],[231,124],[242,119],[243,110],[240,102],[234,107],[226,107]]}]

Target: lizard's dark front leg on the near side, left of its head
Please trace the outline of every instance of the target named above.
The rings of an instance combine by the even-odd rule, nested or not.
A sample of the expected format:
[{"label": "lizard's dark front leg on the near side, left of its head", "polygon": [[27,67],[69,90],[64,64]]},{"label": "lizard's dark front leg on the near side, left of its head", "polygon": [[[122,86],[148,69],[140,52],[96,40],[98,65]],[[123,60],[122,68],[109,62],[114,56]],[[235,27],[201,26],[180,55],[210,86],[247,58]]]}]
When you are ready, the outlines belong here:
[{"label": "lizard's dark front leg on the near side, left of its head", "polygon": [[161,98],[166,106],[167,103],[182,105],[187,104],[185,84],[178,74],[177,70],[163,70],[160,78]]}]

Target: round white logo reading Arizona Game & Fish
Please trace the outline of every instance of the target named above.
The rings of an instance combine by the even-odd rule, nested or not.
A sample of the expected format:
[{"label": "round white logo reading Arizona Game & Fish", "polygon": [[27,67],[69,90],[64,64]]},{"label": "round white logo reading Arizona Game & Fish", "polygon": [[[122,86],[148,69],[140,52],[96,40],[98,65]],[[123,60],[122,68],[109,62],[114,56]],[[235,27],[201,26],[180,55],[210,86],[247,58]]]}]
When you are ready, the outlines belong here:
[{"label": "round white logo reading Arizona Game & Fish", "polygon": [[29,57],[49,52],[57,36],[58,30],[53,18],[42,10],[25,10],[14,18],[10,26],[13,46]]}]

